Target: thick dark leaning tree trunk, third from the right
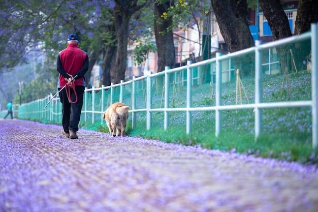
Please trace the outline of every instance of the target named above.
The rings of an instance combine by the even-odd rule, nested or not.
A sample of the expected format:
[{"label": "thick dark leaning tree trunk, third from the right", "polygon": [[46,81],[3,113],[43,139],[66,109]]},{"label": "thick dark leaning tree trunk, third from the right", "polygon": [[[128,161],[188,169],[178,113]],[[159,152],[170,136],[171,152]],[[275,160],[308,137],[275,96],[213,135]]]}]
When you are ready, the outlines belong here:
[{"label": "thick dark leaning tree trunk, third from the right", "polygon": [[[230,52],[254,46],[253,37],[248,27],[248,10],[246,0],[211,0],[211,5]],[[235,69],[243,75],[253,70],[253,59],[245,56],[233,59]]]}]

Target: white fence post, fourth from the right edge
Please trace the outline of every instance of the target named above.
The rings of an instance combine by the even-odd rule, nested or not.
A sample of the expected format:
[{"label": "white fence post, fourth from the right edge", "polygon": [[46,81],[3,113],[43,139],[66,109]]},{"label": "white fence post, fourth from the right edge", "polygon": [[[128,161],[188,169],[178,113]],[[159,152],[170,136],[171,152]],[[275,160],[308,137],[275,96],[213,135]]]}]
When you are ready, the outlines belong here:
[{"label": "white fence post, fourth from the right edge", "polygon": [[192,69],[189,67],[192,62],[187,60],[186,62],[186,134],[191,132],[191,122],[192,122],[192,112],[189,111],[189,108],[192,107]]}]

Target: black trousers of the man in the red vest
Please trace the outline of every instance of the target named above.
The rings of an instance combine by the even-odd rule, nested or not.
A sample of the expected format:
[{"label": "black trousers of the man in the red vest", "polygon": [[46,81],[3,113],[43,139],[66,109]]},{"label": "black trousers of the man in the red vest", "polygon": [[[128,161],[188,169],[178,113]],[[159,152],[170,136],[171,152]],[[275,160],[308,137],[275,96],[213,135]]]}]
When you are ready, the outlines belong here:
[{"label": "black trousers of the man in the red vest", "polygon": [[[58,90],[60,89],[61,88],[58,88]],[[72,102],[75,102],[76,97],[75,97],[74,90],[72,88],[70,88],[70,90],[71,90],[71,100]],[[62,126],[66,133],[69,133],[70,130],[78,131],[78,124],[80,122],[85,87],[75,86],[75,90],[77,94],[76,103],[69,102],[65,88],[59,93],[59,98],[63,105]]]}]

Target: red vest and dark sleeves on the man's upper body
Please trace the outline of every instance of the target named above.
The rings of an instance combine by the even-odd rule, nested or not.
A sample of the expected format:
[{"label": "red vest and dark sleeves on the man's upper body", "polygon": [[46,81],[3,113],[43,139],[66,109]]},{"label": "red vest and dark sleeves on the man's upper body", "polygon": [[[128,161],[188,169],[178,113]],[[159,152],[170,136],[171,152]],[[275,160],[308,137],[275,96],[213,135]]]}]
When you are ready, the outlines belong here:
[{"label": "red vest and dark sleeves on the man's upper body", "polygon": [[75,86],[85,86],[85,73],[88,70],[88,55],[85,51],[78,48],[78,45],[71,43],[66,49],[58,53],[56,69],[59,73],[57,87],[66,85],[69,78],[67,74],[73,77],[78,75],[75,80]]}]

